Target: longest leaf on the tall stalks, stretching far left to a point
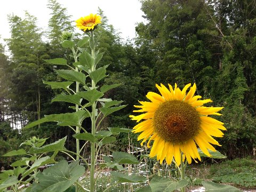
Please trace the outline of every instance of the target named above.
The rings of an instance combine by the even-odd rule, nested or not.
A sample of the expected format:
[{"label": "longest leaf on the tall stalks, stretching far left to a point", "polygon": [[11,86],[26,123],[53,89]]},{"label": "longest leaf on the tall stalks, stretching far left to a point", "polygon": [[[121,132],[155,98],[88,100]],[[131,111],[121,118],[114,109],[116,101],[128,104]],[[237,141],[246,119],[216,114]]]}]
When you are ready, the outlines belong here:
[{"label": "longest leaf on the tall stalks, stretching far left to a point", "polygon": [[58,122],[58,125],[60,126],[81,126],[81,122],[86,117],[90,117],[90,115],[85,110],[79,110],[75,113],[45,115],[44,118],[26,125],[23,127],[23,129],[27,129],[45,122]]}]

